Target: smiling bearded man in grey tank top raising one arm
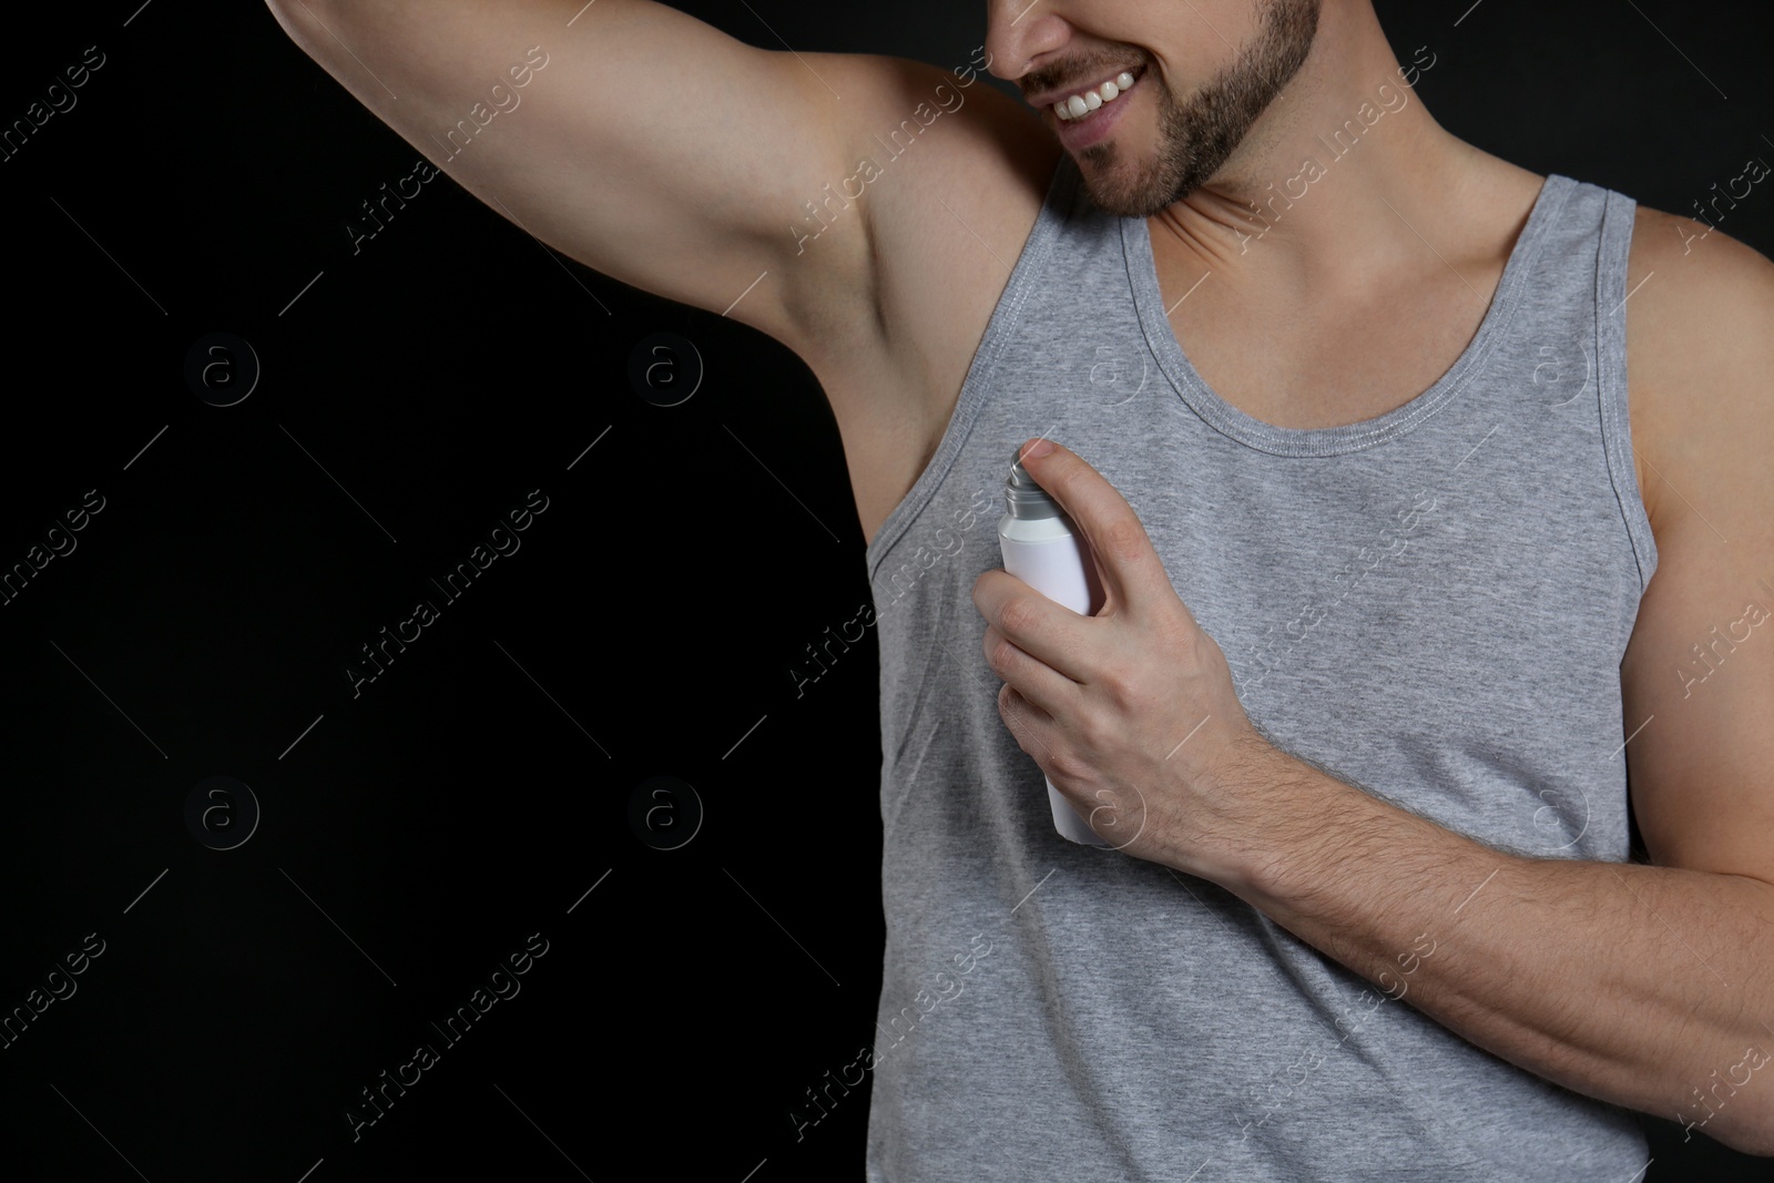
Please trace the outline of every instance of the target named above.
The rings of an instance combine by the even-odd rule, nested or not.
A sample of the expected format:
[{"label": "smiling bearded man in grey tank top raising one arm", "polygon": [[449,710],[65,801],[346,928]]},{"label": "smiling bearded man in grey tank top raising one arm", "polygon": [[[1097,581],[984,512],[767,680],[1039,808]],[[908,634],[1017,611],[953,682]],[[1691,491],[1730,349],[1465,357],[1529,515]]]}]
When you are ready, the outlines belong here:
[{"label": "smiling bearded man in grey tank top raising one arm", "polygon": [[[642,0],[271,7],[825,387],[882,647],[871,1179],[1627,1179],[1625,1109],[1774,1153],[1767,261],[1448,137],[1368,0],[993,0],[1034,114]],[[1089,617],[995,569],[1034,436]]]}]

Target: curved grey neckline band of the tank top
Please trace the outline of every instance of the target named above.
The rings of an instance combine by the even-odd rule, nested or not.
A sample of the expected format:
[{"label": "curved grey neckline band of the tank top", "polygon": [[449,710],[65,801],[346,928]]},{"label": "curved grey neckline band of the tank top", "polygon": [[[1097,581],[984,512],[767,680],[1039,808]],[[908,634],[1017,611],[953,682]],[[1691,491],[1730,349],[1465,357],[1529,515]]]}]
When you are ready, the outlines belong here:
[{"label": "curved grey neckline band of the tank top", "polygon": [[[1073,168],[1073,172],[1077,170]],[[1082,181],[1075,183],[1082,200],[1087,202],[1089,195],[1082,192]],[[1146,346],[1151,349],[1153,360],[1166,378],[1169,378],[1171,387],[1183,403],[1208,426],[1245,447],[1274,456],[1339,456],[1377,447],[1425,422],[1481,372],[1492,348],[1508,333],[1510,321],[1522,302],[1526,277],[1533,271],[1540,241],[1547,227],[1556,222],[1558,211],[1574,186],[1575,181],[1558,174],[1545,177],[1540,193],[1535,197],[1533,209],[1527,213],[1527,222],[1522,225],[1520,234],[1517,234],[1515,245],[1510,248],[1510,257],[1503,264],[1497,291],[1492,294],[1478,332],[1472,333],[1465,349],[1460,351],[1453,365],[1428,390],[1373,419],[1334,427],[1279,427],[1244,413],[1215,394],[1201,374],[1196,372],[1194,364],[1176,339],[1176,332],[1171,328],[1171,317],[1164,310],[1157,259],[1151,250],[1151,227],[1144,218],[1121,218],[1121,247],[1134,287],[1134,307],[1139,316],[1141,332],[1146,337]]]}]

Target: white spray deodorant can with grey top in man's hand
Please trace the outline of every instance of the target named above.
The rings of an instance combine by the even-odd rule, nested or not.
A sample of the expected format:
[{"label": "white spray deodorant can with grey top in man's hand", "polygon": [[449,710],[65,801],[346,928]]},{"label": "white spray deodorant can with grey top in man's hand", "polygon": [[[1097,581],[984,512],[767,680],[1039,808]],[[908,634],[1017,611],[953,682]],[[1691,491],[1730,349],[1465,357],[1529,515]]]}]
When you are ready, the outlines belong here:
[{"label": "white spray deodorant can with grey top in man's hand", "polygon": [[[1022,449],[1018,447],[1020,454]],[[999,520],[999,550],[1004,569],[1048,599],[1079,615],[1096,615],[1103,607],[1096,564],[1089,543],[1052,497],[1034,482],[1018,459],[1004,481],[1009,513]],[[1086,825],[1054,782],[1047,782],[1047,800],[1054,807],[1054,828],[1084,846],[1109,846]]]}]

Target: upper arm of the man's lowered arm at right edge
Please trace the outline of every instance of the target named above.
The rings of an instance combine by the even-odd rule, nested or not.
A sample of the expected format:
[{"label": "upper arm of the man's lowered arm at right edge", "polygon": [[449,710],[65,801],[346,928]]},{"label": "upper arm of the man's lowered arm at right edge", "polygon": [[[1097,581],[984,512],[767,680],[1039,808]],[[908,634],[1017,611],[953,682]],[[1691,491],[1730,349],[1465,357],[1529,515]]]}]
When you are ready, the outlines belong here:
[{"label": "upper arm of the man's lowered arm at right edge", "polygon": [[1632,362],[1668,411],[1659,564],[1621,663],[1625,729],[1643,727],[1625,757],[1653,862],[1774,881],[1774,271],[1714,262],[1666,268],[1664,328],[1682,332]]}]

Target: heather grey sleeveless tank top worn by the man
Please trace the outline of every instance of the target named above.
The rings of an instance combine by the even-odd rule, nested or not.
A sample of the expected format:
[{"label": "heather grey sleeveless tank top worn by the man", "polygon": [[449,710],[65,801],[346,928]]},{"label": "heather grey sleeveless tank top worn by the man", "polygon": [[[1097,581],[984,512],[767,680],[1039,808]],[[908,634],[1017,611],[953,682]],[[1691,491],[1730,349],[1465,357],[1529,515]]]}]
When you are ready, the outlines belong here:
[{"label": "heather grey sleeveless tank top worn by the man", "polygon": [[[1634,1178],[1627,1110],[1210,881],[1059,837],[972,603],[1015,449],[1052,436],[1134,505],[1283,748],[1492,846],[1625,860],[1641,720],[1620,662],[1657,566],[1627,429],[1632,215],[1549,177],[1433,387],[1281,429],[1201,381],[1146,222],[1061,160],[947,431],[867,546],[885,975],[873,1046],[825,1096],[873,1071],[873,1183]],[[1458,929],[1400,951],[1435,940]]]}]

